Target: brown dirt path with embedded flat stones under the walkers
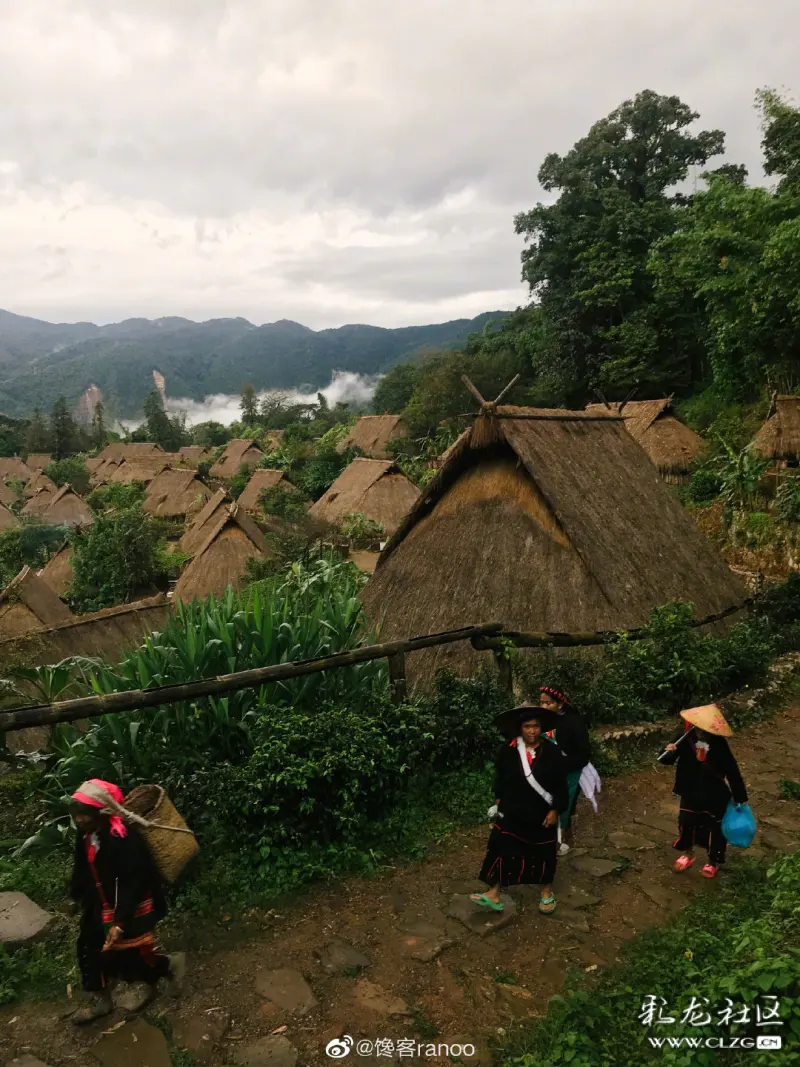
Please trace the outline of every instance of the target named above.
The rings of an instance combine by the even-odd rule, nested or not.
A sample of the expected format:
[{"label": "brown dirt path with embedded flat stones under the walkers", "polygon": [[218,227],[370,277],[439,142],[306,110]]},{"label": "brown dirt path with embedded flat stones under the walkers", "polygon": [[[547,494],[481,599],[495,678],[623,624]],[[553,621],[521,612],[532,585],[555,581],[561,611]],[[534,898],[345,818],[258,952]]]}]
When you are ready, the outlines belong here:
[{"label": "brown dirt path with embedded flat stones under the walkers", "polygon": [[[779,799],[779,782],[782,777],[800,779],[800,705],[742,731],[735,750],[759,824],[748,855],[795,847],[800,805]],[[537,891],[523,887],[511,894],[515,918],[485,936],[477,931],[491,921],[490,913],[465,901],[465,894],[479,888],[475,874],[486,840],[486,830],[479,828],[453,835],[419,863],[372,880],[316,889],[279,917],[251,918],[247,936],[235,946],[208,947],[208,931],[197,930],[186,945],[183,998],[157,1002],[147,1018],[165,1017],[177,1038],[173,1047],[194,1047],[197,1063],[330,1064],[325,1046],[341,1034],[356,1041],[469,1041],[477,1056],[465,1062],[489,1062],[487,1042],[513,1019],[542,1014],[570,968],[612,964],[625,940],[663,922],[691,894],[719,892],[724,872],[708,881],[700,877],[700,863],[687,875],[672,871],[676,801],[671,787],[671,770],[652,768],[610,780],[597,815],[581,802],[578,847],[559,864],[554,917],[541,915]],[[742,855],[730,849],[729,863],[741,862]],[[612,865],[620,869],[602,873]],[[476,928],[449,914],[453,905],[466,905]],[[358,961],[347,955],[340,973],[325,969],[318,956],[334,939],[366,957],[361,973]],[[292,988],[299,975],[271,978],[276,969],[299,972],[307,987]],[[308,1000],[309,990],[316,1003]],[[153,1035],[143,1022],[103,1036],[121,1020],[113,1016],[105,1025],[76,1032],[60,1018],[68,1008],[64,1002],[3,1010],[0,1053],[11,1060],[31,1052],[50,1067],[95,1067],[98,1062],[167,1067],[164,1049],[157,1048],[158,1035],[154,1051],[144,1053]],[[286,1029],[274,1035],[278,1028]],[[204,1032],[209,1039],[203,1040]],[[354,1049],[348,1062],[381,1061],[358,1056]]]}]

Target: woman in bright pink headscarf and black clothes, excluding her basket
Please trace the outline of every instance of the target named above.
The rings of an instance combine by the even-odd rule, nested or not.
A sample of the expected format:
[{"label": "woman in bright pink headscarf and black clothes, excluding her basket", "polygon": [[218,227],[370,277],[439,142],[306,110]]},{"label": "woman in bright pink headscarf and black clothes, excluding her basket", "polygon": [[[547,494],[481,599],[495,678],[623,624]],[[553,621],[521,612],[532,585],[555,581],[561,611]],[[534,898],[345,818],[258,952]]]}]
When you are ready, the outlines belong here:
[{"label": "woman in bright pink headscarf and black clothes, excluding her basket", "polygon": [[[78,827],[70,897],[81,907],[78,961],[87,1003],[77,1025],[144,1007],[159,978],[174,978],[171,959],[156,951],[153,931],[166,914],[161,877],[147,845],[115,814],[123,793],[97,778],[73,794]],[[111,998],[112,980],[126,984]]]}]

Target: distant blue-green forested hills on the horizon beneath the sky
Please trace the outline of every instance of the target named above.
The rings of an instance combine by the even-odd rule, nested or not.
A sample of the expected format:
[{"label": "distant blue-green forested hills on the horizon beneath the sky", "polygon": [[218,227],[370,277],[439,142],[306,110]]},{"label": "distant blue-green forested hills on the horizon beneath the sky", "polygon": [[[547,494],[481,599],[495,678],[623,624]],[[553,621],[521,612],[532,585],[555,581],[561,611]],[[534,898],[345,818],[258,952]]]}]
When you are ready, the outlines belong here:
[{"label": "distant blue-green forested hills on the horizon beneath the sky", "polygon": [[0,310],[0,410],[26,415],[49,410],[59,396],[74,402],[90,384],[100,387],[117,417],[141,414],[153,371],[173,397],[202,400],[215,393],[321,388],[334,370],[377,375],[419,349],[452,349],[505,312],[436,325],[385,330],[346,325],[309,330],[282,320],[255,327],[246,319],[127,319],[111,325],[51,323]]}]

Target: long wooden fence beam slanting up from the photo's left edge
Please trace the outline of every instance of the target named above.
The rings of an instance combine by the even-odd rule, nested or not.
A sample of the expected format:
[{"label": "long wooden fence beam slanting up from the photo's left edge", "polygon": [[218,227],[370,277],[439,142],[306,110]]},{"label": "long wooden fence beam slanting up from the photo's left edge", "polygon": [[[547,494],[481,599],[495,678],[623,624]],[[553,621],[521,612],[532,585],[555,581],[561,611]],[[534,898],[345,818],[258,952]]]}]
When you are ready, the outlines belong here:
[{"label": "long wooden fence beam slanting up from the photo's left edge", "polygon": [[350,652],[339,652],[320,659],[304,659],[300,663],[275,664],[271,667],[256,667],[252,670],[221,674],[217,678],[185,682],[180,685],[162,685],[153,689],[129,689],[124,692],[102,694],[99,697],[78,697],[61,700],[53,704],[34,704],[16,707],[0,713],[0,733],[25,730],[28,727],[51,726],[54,722],[74,722],[76,719],[95,718],[118,712],[133,712],[145,707],[160,707],[162,704],[177,704],[198,697],[238,692],[255,686],[269,685],[287,678],[301,678],[318,671],[352,667],[369,663],[371,659],[387,659],[390,656],[419,649],[430,649],[437,644],[454,641],[469,641],[476,637],[490,636],[502,632],[501,622],[489,622],[477,626],[462,626],[441,634],[427,634],[402,641],[387,641],[382,644],[366,644]]}]

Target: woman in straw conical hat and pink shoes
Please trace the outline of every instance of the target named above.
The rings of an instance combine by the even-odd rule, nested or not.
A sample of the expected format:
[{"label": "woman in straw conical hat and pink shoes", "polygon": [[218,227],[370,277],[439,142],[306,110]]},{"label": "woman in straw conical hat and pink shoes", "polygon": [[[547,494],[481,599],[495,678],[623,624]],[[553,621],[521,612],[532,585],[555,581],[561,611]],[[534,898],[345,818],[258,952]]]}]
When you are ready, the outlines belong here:
[{"label": "woman in straw conical hat and pink shoes", "polygon": [[675,860],[675,870],[689,870],[697,845],[708,853],[708,862],[700,873],[704,878],[714,878],[725,862],[722,816],[732,798],[736,805],[747,803],[748,793],[725,740],[733,730],[719,707],[692,707],[682,712],[681,717],[685,729],[660,757],[661,763],[676,764],[673,793],[681,800],[681,811],[673,847],[682,855]]}]

